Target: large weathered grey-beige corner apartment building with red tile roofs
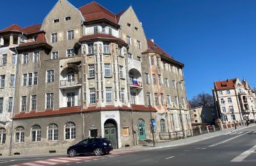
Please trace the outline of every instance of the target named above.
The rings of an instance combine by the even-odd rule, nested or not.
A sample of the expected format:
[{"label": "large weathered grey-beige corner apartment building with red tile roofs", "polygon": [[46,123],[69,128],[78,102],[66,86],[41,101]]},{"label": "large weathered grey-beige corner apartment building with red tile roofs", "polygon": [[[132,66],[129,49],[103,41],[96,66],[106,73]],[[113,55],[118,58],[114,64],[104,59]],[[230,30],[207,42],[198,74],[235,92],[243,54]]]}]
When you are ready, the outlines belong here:
[{"label": "large weathered grey-beige corner apartment building with red tile roofs", "polygon": [[184,64],[147,40],[132,7],[59,0],[42,24],[0,36],[1,155],[63,152],[87,137],[141,144],[151,117],[156,139],[189,134]]}]

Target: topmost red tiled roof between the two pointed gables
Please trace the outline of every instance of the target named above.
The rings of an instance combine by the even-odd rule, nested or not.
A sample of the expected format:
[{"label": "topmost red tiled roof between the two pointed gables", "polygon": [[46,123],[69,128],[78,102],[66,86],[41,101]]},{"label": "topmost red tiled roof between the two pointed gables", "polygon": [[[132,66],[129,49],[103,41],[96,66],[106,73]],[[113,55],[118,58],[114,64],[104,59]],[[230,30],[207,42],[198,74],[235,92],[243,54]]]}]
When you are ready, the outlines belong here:
[{"label": "topmost red tiled roof between the two pointed gables", "polygon": [[81,11],[84,20],[86,21],[108,19],[111,22],[114,22],[116,24],[118,23],[116,22],[116,15],[114,13],[94,1],[78,8],[78,10]]}]

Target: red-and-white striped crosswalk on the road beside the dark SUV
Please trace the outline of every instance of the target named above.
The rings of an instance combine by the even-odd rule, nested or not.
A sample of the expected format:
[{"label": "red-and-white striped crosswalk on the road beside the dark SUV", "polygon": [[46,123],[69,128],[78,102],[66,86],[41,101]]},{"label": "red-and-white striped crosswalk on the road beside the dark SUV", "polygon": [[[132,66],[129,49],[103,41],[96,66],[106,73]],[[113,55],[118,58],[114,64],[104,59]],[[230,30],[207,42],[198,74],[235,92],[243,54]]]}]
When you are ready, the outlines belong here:
[{"label": "red-and-white striped crosswalk on the road beside the dark SUV", "polygon": [[[90,162],[93,160],[104,160],[107,158],[113,158],[113,157],[117,157],[123,154],[127,154],[127,153],[134,153],[134,152],[138,152],[141,150],[136,150],[136,151],[112,151],[109,155],[104,155],[104,156],[76,156],[74,158],[70,158],[70,157],[59,157],[59,158],[51,158],[51,159],[44,159],[44,160],[38,160],[38,161],[33,161],[33,162],[26,162],[26,163],[19,163],[19,164],[15,164],[12,166],[42,166],[42,165],[63,165],[63,164],[67,164],[70,165],[70,163],[74,163],[74,162]],[[68,164],[69,163],[69,164]]]}]

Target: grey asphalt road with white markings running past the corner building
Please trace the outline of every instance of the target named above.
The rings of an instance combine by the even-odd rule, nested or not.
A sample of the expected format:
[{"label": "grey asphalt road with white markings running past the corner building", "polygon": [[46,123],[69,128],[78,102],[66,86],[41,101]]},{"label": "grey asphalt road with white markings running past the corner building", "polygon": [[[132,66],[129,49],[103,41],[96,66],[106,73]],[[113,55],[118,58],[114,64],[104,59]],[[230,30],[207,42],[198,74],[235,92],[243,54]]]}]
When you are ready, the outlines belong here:
[{"label": "grey asphalt road with white markings running past the corner building", "polygon": [[256,165],[256,126],[186,146],[104,156],[0,158],[0,165]]}]

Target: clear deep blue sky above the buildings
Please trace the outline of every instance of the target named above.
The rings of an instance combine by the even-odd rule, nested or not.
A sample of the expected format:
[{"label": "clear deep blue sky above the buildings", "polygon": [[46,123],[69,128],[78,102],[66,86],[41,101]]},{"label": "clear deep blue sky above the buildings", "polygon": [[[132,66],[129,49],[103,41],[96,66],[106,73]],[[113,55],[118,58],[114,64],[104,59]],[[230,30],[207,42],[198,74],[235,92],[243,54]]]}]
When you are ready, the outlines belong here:
[{"label": "clear deep blue sky above the buildings", "polygon": [[[0,29],[42,23],[57,0],[1,0]],[[77,8],[89,0],[69,0]],[[97,0],[113,13],[132,6],[147,38],[185,64],[188,100],[213,82],[246,79],[256,87],[256,1]]]}]

